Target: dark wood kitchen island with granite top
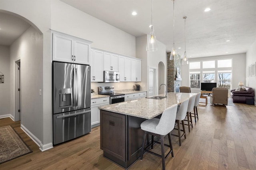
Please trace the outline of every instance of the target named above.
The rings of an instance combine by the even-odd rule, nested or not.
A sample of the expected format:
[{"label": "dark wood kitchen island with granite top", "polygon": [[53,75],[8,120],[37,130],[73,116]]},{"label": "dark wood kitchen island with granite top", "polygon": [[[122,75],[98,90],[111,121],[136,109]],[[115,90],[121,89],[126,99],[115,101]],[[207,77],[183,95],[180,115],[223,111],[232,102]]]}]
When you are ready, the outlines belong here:
[{"label": "dark wood kitchen island with granite top", "polygon": [[[164,109],[192,95],[170,92],[167,98],[160,100],[141,98],[100,107],[100,149],[104,151],[103,156],[125,169],[129,168],[140,157],[144,133],[140,124],[160,116]],[[148,136],[148,143],[150,139]]]}]

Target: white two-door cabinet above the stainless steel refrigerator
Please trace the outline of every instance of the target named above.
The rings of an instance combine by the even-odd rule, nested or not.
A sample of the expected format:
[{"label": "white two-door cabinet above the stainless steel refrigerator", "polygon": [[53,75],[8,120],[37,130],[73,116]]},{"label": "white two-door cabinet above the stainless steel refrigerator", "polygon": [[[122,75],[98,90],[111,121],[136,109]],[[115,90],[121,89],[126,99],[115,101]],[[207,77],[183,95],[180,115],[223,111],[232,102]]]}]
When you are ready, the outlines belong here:
[{"label": "white two-door cabinet above the stainless steel refrigerator", "polygon": [[53,33],[52,60],[89,65],[91,43],[64,33]]}]

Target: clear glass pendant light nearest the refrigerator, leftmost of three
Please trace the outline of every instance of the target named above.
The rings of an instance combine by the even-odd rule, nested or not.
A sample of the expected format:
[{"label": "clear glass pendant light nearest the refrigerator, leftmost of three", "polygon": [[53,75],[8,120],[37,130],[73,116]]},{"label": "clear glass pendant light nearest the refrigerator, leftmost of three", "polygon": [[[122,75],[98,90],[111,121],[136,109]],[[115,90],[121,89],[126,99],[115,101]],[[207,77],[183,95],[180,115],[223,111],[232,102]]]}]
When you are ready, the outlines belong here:
[{"label": "clear glass pendant light nearest the refrigerator, leftmost of three", "polygon": [[148,37],[148,44],[147,44],[147,51],[157,51],[157,43],[156,43],[156,36],[154,33],[154,26],[152,23],[153,16],[153,0],[151,0],[151,25],[150,25],[150,35]]}]

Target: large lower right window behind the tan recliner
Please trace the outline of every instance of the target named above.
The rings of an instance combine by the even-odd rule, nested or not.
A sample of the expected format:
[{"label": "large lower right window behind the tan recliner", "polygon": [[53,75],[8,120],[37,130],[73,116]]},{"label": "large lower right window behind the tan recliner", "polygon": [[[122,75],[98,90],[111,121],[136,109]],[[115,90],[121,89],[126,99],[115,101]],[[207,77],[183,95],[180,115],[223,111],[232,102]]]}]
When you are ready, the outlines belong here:
[{"label": "large lower right window behind the tan recliner", "polygon": [[218,87],[225,87],[230,90],[231,87],[231,70],[218,71]]}]

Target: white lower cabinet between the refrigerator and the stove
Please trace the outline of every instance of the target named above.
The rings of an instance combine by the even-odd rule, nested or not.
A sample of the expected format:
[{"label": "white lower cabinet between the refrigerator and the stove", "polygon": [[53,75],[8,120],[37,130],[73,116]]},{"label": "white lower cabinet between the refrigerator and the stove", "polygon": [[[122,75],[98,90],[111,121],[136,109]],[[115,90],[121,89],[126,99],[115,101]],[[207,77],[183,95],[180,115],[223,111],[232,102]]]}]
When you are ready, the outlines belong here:
[{"label": "white lower cabinet between the refrigerator and the stove", "polygon": [[91,100],[91,127],[100,125],[100,109],[98,107],[109,105],[109,97]]}]

